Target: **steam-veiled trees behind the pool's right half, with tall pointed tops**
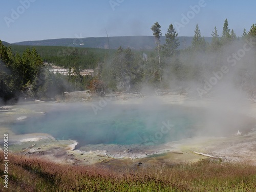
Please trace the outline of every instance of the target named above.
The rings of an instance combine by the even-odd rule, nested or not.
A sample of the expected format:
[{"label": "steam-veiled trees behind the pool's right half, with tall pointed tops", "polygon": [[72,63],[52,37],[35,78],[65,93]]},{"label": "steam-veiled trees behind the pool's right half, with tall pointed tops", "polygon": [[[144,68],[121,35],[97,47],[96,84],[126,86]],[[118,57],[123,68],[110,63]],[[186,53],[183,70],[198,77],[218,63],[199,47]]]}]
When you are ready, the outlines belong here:
[{"label": "steam-veiled trees behind the pool's right half, with tall pointed tops", "polygon": [[[95,78],[105,83],[112,91],[125,92],[142,90],[145,86],[171,89],[191,82],[204,84],[211,78],[212,73],[219,71],[226,64],[229,54],[232,55],[232,52],[243,48],[245,39],[254,38],[256,33],[253,24],[248,32],[244,29],[242,37],[237,37],[234,30],[229,29],[228,20],[225,19],[222,35],[218,34],[215,27],[211,34],[212,40],[208,43],[196,25],[191,46],[178,50],[178,33],[172,24],[165,33],[163,45],[160,44],[160,24],[156,22],[151,30],[155,36],[155,52],[147,55],[145,59],[142,55],[133,53],[130,48],[119,47],[113,58],[104,62]],[[243,58],[244,65],[237,68],[232,77],[235,86],[241,87],[243,84],[243,88],[247,90],[256,88],[253,77],[253,71],[256,72],[253,56],[255,49],[250,53],[250,57]]]}]

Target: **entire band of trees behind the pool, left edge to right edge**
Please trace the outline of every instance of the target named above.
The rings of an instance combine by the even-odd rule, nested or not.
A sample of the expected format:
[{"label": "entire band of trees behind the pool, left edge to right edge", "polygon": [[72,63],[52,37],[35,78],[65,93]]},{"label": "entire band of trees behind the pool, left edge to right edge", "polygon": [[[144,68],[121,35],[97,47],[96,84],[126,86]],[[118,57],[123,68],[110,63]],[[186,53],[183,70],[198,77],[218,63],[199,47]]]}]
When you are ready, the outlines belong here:
[{"label": "entire band of trees behind the pool, left edge to right edge", "polygon": [[[204,85],[212,73],[222,69],[229,55],[234,57],[229,61],[243,60],[243,65],[229,73],[234,74],[230,77],[234,85],[254,94],[255,48],[243,58],[237,58],[233,54],[243,47],[246,39],[253,38],[255,42],[255,24],[248,32],[244,29],[242,37],[237,37],[234,30],[229,29],[228,20],[225,19],[222,35],[218,34],[215,27],[210,43],[204,40],[196,25],[191,46],[185,50],[178,50],[178,33],[172,24],[165,33],[163,45],[160,44],[160,24],[156,22],[151,30],[155,36],[156,51],[142,52],[119,47],[115,53],[113,50],[104,50],[102,57],[102,53],[90,55],[82,49],[70,50],[69,54],[58,57],[58,62],[63,61],[62,66],[69,68],[68,75],[50,72],[50,66],[44,64],[34,48],[27,48],[20,54],[5,47],[0,40],[0,98],[4,101],[18,97],[54,98],[56,95],[63,95],[65,91],[87,89],[103,96],[108,91],[138,93],[145,87],[172,89],[191,82]],[[80,75],[80,71],[90,65],[88,60],[81,61],[84,55],[88,55],[94,63],[95,72],[92,76]]]}]

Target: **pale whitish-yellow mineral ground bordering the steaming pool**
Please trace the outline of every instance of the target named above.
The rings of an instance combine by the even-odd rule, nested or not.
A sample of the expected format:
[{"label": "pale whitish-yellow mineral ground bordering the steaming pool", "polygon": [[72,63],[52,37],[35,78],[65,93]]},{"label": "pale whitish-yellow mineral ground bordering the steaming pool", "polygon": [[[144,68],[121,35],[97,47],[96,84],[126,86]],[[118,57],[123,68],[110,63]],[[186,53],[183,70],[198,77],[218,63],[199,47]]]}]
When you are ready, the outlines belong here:
[{"label": "pale whitish-yellow mineral ground bordering the steaming pool", "polygon": [[[191,101],[191,98],[180,97],[180,96],[159,96],[161,101],[164,103],[174,103],[182,106],[195,106],[198,102],[193,103],[194,100]],[[116,100],[113,101],[119,104],[129,104],[140,103],[145,99],[152,99],[152,97],[148,98],[138,98],[132,100]],[[208,100],[200,100],[201,105],[197,107],[207,107]],[[4,110],[0,114],[0,120],[14,122],[17,121],[19,117],[33,117],[33,116],[41,116],[45,115],[50,110],[56,109],[57,106],[63,107],[67,103],[56,103],[56,102],[45,102],[45,103],[21,103],[17,105],[9,105],[4,106],[8,108],[8,110]],[[70,103],[69,103],[70,104]],[[77,103],[71,103],[72,105],[76,105]],[[87,105],[89,106],[91,103],[78,103],[79,105]],[[249,111],[246,115],[250,117],[256,116],[256,104],[251,104],[249,106]],[[255,116],[254,116],[255,115]],[[26,120],[26,118],[21,118],[21,121]],[[147,151],[140,151],[136,153],[133,148],[124,147],[120,149],[120,151],[116,153],[112,153],[108,150],[95,150],[95,151],[83,151],[83,150],[74,150],[74,140],[55,140],[51,135],[44,134],[25,134],[25,135],[15,135],[10,130],[7,129],[5,124],[1,123],[1,135],[0,139],[2,140],[3,133],[9,132],[10,142],[16,142],[17,146],[20,147],[20,143],[26,143],[26,147],[28,150],[15,152],[20,155],[27,155],[30,157],[40,157],[45,158],[46,160],[51,160],[59,163],[68,163],[68,164],[84,164],[84,165],[92,165],[95,163],[106,163],[109,161],[127,161],[133,164],[134,162],[140,161],[146,163],[150,162],[150,157],[155,158],[154,155],[161,155],[162,161],[168,162],[188,162],[188,161],[198,161],[202,157],[200,155],[194,154],[193,151],[210,153],[215,156],[223,157],[226,156],[228,160],[234,161],[244,161],[254,164],[253,158],[256,157],[256,152],[253,152],[251,148],[253,147],[254,138],[256,138],[255,132],[251,132],[250,134],[245,134],[242,136],[236,136],[234,133],[230,133],[230,137],[199,137],[199,138],[190,138],[182,141],[169,142],[165,145],[162,145],[158,149],[154,149],[148,153]],[[243,131],[241,131],[243,133]],[[233,136],[232,136],[233,135]],[[36,139],[32,140],[31,138],[42,138],[36,141]],[[25,140],[23,140],[25,139]],[[27,140],[26,140],[27,139]],[[31,140],[29,140],[31,139]],[[20,142],[20,140],[27,142]],[[244,140],[248,140],[244,141]],[[44,142],[42,144],[42,142]],[[19,143],[20,142],[20,143]],[[49,144],[51,143],[51,144]],[[232,143],[230,145],[230,143]],[[34,147],[30,147],[33,144],[36,144]],[[41,145],[40,145],[41,144]],[[28,145],[28,146],[27,146]],[[43,147],[41,147],[43,146]],[[239,148],[239,146],[243,146],[243,148]],[[45,147],[45,148],[44,148]],[[218,148],[219,147],[219,148]],[[24,148],[24,147],[21,147]],[[38,148],[40,148],[38,150]],[[24,149],[23,149],[24,150]],[[129,151],[127,151],[129,150]],[[234,151],[237,150],[237,151]],[[245,151],[248,151],[245,153]],[[29,153],[27,153],[29,151]],[[126,151],[126,152],[125,152]],[[44,154],[42,154],[44,152]],[[175,155],[174,155],[175,154]],[[226,155],[225,155],[226,154]],[[250,155],[248,155],[250,154]],[[245,158],[246,157],[246,158]],[[126,160],[125,160],[126,159]]]}]

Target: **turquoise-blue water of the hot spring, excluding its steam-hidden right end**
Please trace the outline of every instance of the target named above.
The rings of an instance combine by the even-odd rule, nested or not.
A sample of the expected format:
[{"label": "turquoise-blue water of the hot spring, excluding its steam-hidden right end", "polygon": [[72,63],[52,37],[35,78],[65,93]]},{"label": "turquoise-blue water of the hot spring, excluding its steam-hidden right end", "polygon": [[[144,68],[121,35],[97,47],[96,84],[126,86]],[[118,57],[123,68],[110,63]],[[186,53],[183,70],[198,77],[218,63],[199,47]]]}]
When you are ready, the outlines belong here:
[{"label": "turquoise-blue water of the hot spring, excluding its steam-hidden right end", "polygon": [[[199,117],[178,106],[107,105],[95,115],[90,106],[52,110],[12,125],[16,134],[48,133],[85,144],[161,144],[193,137]],[[164,127],[164,123],[172,127]]]}]

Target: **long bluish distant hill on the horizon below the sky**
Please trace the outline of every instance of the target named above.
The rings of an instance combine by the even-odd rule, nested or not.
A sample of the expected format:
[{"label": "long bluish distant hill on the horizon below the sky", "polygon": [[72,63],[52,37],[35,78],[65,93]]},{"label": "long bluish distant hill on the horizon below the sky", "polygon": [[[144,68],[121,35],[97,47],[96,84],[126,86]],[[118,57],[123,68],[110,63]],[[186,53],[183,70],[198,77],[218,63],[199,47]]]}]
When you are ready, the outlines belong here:
[{"label": "long bluish distant hill on the horizon below the sky", "polygon": [[[184,49],[191,45],[193,37],[181,36],[178,37],[180,41],[179,49]],[[211,37],[204,37],[206,42],[211,41]],[[165,36],[160,38],[161,44],[165,42]],[[87,37],[87,38],[61,38],[61,39],[47,39],[15,42],[15,45],[26,46],[73,46],[81,48],[100,48],[100,49],[117,49],[130,47],[134,50],[151,50],[156,47],[154,36],[121,36],[121,37]],[[110,45],[110,46],[109,46]]]}]

